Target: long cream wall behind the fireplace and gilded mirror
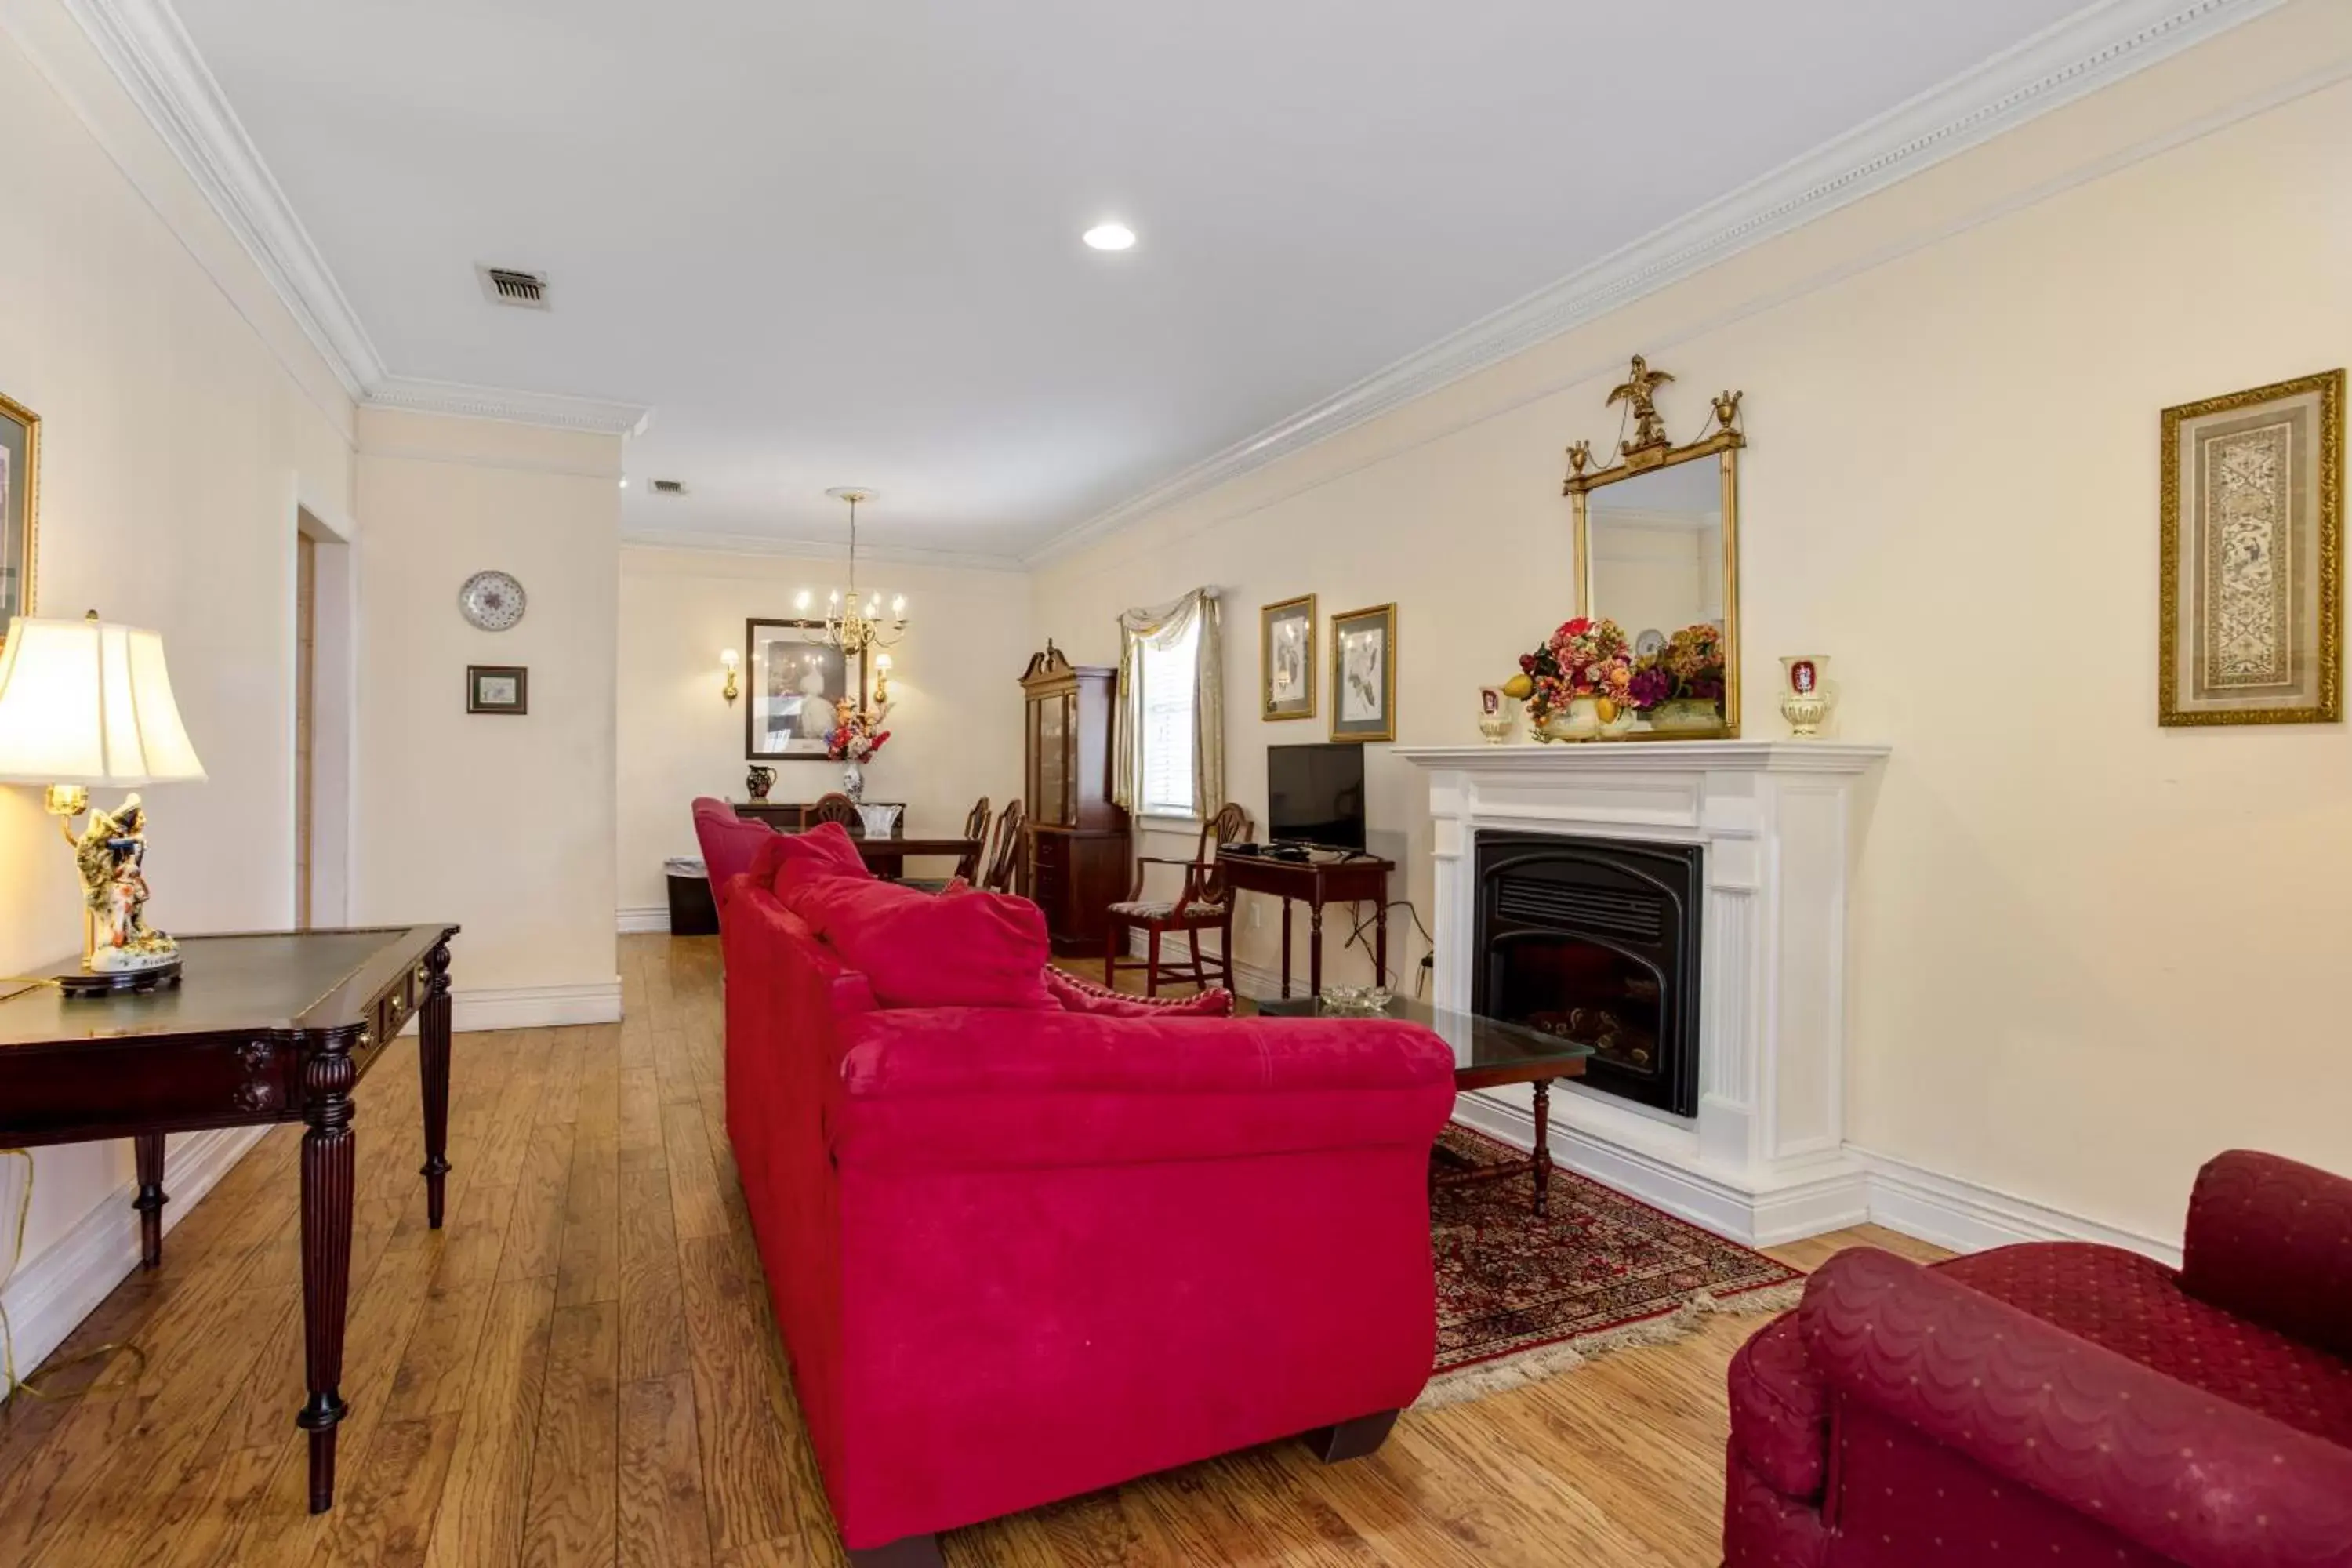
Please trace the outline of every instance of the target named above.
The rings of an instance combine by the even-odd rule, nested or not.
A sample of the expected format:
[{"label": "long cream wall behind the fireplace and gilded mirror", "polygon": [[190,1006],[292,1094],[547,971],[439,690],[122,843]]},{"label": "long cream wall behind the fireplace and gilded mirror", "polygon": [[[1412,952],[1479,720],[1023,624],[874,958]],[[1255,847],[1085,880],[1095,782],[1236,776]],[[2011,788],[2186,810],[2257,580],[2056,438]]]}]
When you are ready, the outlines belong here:
[{"label": "long cream wall behind the fireplace and gilded mirror", "polygon": [[[1849,1135],[2150,1237],[2201,1159],[2352,1171],[2338,966],[2352,736],[2154,724],[2157,414],[2352,362],[2352,7],[2281,7],[2124,85],[1040,574],[1037,635],[1228,590],[1232,795],[1263,811],[1258,604],[1402,607],[1399,741],[1569,614],[1559,451],[1635,350],[1748,393],[1748,733],[1825,651],[1893,757],[1858,849]],[[1329,642],[1319,649],[1329,661]],[[1428,907],[1423,780],[1376,827]],[[1270,964],[1272,931],[1242,931]],[[1418,945],[1409,947],[1418,957]]]}]

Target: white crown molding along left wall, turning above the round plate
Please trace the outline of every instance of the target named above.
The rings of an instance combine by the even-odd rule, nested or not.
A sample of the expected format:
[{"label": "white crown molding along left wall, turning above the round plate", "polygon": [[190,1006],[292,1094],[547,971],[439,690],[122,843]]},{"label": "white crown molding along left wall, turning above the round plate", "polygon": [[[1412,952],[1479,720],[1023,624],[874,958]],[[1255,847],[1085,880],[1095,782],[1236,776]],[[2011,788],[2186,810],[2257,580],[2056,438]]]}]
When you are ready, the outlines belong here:
[{"label": "white crown molding along left wall, turning above the round plate", "polygon": [[61,0],[355,404],[640,435],[649,409],[395,376],[169,0]]}]

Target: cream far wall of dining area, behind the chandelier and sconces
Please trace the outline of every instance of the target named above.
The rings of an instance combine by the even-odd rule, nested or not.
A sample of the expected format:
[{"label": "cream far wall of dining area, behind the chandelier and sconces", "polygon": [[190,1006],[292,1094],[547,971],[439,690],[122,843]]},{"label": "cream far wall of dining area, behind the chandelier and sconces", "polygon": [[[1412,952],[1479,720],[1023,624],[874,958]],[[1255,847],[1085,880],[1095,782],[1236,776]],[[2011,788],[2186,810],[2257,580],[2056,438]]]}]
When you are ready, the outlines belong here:
[{"label": "cream far wall of dining area, behind the chandelier and sconces", "polygon": [[[840,557],[621,550],[621,910],[668,912],[661,863],[699,853],[687,802],[743,799],[743,703],[720,696],[720,649],[743,649],[753,616],[793,616],[793,592],[823,592]],[[861,583],[908,595],[891,649],[889,745],[866,769],[868,799],[908,802],[908,830],[960,832],[971,802],[1021,792],[1016,682],[1033,651],[1028,578],[1009,571],[861,564]],[[776,762],[776,799],[840,788],[840,764]],[[913,865],[946,875],[946,865]],[[609,905],[607,905],[609,907]]]}]

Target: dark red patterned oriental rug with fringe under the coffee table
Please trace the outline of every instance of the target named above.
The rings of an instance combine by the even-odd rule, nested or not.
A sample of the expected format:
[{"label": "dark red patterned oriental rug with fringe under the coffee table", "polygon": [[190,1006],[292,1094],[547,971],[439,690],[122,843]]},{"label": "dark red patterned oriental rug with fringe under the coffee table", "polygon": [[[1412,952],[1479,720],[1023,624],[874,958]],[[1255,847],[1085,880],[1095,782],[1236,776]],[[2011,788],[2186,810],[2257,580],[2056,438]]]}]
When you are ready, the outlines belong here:
[{"label": "dark red patterned oriental rug with fringe under the coffee table", "polygon": [[[1475,1166],[1524,1161],[1449,1126]],[[1550,1215],[1529,1213],[1531,1175],[1437,1187],[1437,1373],[1421,1406],[1482,1399],[1552,1378],[1625,1345],[1663,1345],[1708,1312],[1783,1312],[1804,1276],[1670,1213],[1552,1171]]]}]

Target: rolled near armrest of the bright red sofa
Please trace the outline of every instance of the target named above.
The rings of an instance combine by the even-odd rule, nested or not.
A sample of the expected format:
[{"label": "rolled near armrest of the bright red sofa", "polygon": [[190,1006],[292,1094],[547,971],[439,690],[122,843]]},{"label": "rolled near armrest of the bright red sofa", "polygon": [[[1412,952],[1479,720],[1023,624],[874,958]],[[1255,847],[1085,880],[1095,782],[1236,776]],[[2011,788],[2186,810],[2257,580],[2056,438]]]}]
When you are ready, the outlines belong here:
[{"label": "rolled near armrest of the bright red sofa", "polygon": [[1454,1107],[1454,1051],[1388,1020],[884,1009],[842,1030],[835,1157],[1077,1166],[1399,1145]]}]

